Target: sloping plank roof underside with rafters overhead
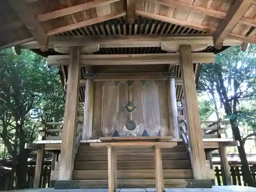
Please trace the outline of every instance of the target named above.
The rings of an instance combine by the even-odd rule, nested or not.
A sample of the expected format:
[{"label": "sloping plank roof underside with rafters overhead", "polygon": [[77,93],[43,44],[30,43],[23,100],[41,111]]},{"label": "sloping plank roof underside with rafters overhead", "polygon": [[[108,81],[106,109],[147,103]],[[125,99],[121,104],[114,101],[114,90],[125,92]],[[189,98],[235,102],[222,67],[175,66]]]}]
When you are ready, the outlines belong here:
[{"label": "sloping plank roof underside with rafters overhead", "polygon": [[115,18],[132,24],[138,16],[210,33],[217,48],[226,37],[256,43],[255,4],[255,0],[8,0],[0,6],[4,26],[0,46],[32,38],[47,46],[48,36]]}]

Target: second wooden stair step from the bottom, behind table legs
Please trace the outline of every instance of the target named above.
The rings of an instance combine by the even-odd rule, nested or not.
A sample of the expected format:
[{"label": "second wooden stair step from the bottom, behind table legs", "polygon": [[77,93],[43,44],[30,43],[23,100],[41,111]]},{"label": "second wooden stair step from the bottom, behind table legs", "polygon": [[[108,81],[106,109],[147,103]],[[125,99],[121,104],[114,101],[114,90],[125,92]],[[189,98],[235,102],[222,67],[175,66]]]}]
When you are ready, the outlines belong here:
[{"label": "second wooden stair step from the bottom, behind table legs", "polygon": [[[191,179],[191,169],[164,169],[164,179]],[[74,170],[74,180],[108,179],[108,170]],[[117,170],[117,179],[155,179],[154,169]]]}]

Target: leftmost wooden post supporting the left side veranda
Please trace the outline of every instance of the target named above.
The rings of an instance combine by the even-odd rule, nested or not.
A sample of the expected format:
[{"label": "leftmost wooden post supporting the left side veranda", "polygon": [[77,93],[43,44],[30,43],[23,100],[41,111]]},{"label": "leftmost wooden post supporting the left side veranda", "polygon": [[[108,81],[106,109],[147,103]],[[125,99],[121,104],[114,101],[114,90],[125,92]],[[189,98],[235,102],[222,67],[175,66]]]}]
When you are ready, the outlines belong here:
[{"label": "leftmost wooden post supporting the left side veranda", "polygon": [[40,188],[41,187],[41,170],[44,166],[44,154],[45,154],[45,145],[40,145],[40,148],[37,150],[36,155],[36,164],[35,164],[35,176],[34,176],[34,182],[33,182],[33,188]]}]

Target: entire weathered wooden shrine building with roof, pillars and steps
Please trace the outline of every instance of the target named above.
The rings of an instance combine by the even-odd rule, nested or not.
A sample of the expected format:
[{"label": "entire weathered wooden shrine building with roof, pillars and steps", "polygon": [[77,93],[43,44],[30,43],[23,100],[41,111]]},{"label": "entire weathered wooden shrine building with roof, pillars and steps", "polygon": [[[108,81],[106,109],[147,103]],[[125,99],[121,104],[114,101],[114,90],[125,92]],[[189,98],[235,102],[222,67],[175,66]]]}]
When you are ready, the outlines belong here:
[{"label": "entire weathered wooden shrine building with roof, pillars and steps", "polygon": [[64,121],[41,122],[27,144],[35,188],[45,151],[55,188],[211,187],[208,152],[220,148],[227,165],[237,141],[201,126],[200,66],[256,42],[255,0],[7,0],[0,10],[0,48],[46,56],[66,90]]}]

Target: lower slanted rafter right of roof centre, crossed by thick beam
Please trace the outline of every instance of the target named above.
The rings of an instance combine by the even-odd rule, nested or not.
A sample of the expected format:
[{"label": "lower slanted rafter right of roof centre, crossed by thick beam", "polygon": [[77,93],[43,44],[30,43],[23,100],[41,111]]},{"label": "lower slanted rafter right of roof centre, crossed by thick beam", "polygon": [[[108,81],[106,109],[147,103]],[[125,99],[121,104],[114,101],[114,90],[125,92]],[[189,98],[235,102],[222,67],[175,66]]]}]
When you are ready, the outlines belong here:
[{"label": "lower slanted rafter right of roof centre, crossed by thick beam", "polygon": [[[211,28],[211,27],[202,26],[202,25],[198,25],[198,24],[193,24],[193,23],[190,23],[190,22],[186,22],[184,20],[170,18],[170,17],[166,17],[166,16],[163,16],[163,15],[153,14],[153,13],[149,13],[149,12],[145,12],[145,11],[141,11],[141,10],[136,10],[136,14],[138,14],[140,16],[160,20],[162,22],[167,22],[167,23],[172,23],[172,24],[176,24],[176,25],[185,26],[185,27],[188,27],[188,28],[193,28],[193,29],[196,29],[196,30],[200,30],[200,31],[210,33],[210,34],[214,33],[217,30],[217,29],[214,29],[214,28]],[[256,44],[256,38],[245,37],[243,35],[239,35],[239,34],[235,34],[235,33],[229,33],[228,37],[239,40],[239,41],[251,42],[251,43]]]}]

